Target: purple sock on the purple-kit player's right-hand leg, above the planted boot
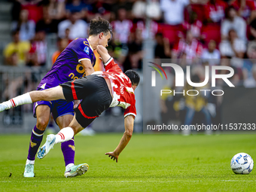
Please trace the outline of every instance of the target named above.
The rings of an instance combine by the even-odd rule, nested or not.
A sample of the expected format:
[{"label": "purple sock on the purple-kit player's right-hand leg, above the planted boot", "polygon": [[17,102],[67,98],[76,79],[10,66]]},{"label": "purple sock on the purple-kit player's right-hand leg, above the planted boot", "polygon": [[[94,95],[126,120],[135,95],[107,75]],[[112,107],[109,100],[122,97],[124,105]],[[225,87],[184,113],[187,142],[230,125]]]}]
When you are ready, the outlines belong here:
[{"label": "purple sock on the purple-kit player's right-hand leg, above the planted boot", "polygon": [[65,166],[69,165],[69,163],[75,162],[75,142],[74,137],[67,141],[61,143],[61,150],[64,156]]}]

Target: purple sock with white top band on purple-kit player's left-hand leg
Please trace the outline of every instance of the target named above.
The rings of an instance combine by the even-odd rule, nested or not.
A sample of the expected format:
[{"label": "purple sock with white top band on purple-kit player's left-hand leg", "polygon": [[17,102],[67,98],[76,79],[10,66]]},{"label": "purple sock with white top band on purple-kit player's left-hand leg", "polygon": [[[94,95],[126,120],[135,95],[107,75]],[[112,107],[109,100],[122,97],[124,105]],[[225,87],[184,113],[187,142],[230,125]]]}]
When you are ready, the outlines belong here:
[{"label": "purple sock with white top band on purple-kit player's left-hand leg", "polygon": [[29,142],[29,154],[28,160],[35,160],[35,154],[38,151],[38,148],[41,144],[41,141],[44,136],[44,131],[38,130],[35,126],[31,133],[31,139]]}]

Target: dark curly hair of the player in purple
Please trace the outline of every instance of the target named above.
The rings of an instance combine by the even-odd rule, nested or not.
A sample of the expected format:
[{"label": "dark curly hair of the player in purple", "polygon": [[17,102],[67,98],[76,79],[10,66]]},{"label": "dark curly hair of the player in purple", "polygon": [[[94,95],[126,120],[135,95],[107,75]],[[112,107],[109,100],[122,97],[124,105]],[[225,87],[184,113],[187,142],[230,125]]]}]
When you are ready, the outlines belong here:
[{"label": "dark curly hair of the player in purple", "polygon": [[98,35],[99,33],[103,32],[104,35],[108,35],[108,32],[112,33],[112,26],[108,22],[108,20],[104,20],[101,17],[98,19],[93,19],[90,21],[90,29],[89,29],[89,36],[90,35]]}]

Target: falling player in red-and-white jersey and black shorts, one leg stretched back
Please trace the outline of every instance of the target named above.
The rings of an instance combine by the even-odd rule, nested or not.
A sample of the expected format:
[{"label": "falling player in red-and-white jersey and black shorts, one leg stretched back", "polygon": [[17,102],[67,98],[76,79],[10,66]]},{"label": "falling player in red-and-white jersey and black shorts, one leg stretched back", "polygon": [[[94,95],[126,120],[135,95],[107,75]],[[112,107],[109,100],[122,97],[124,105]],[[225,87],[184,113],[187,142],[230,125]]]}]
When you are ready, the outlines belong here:
[{"label": "falling player in red-and-white jersey and black shorts, one leg stretched back", "polygon": [[[130,141],[133,135],[134,118],[136,117],[134,90],[139,85],[139,75],[133,70],[123,73],[114,59],[109,56],[105,47],[98,45],[97,51],[104,62],[106,72],[93,72],[92,75],[84,78],[59,84],[59,86],[48,90],[32,91],[8,101],[14,102],[17,106],[28,103],[29,100],[37,102],[39,100],[66,99],[70,102],[82,99],[78,108],[74,109],[75,116],[69,126],[60,130],[56,135],[50,134],[47,136],[47,141],[38,150],[38,158],[45,157],[56,143],[72,139],[75,134],[86,128],[96,117],[99,117],[103,111],[114,106],[125,109],[125,132],[117,148],[106,153],[106,155],[117,162],[120,152]],[[7,109],[5,105],[7,105],[6,102],[0,104],[0,111]]]}]

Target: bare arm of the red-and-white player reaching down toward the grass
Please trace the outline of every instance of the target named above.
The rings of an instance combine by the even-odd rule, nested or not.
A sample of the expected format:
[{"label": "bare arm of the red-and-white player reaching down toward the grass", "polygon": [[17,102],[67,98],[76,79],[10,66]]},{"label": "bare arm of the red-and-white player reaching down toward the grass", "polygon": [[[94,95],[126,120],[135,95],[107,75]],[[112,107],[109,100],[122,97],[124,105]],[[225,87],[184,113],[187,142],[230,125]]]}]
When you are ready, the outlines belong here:
[{"label": "bare arm of the red-and-white player reaching down toward the grass", "polygon": [[111,157],[113,160],[118,160],[118,156],[121,151],[126,147],[128,142],[130,142],[131,137],[133,136],[133,123],[134,123],[134,117],[133,115],[129,115],[124,118],[124,128],[125,132],[123,133],[123,137],[119,142],[119,145],[113,152],[105,153],[105,155],[108,155],[108,157]]}]

